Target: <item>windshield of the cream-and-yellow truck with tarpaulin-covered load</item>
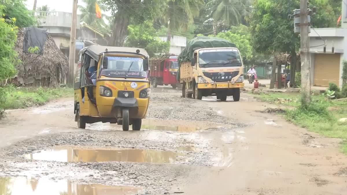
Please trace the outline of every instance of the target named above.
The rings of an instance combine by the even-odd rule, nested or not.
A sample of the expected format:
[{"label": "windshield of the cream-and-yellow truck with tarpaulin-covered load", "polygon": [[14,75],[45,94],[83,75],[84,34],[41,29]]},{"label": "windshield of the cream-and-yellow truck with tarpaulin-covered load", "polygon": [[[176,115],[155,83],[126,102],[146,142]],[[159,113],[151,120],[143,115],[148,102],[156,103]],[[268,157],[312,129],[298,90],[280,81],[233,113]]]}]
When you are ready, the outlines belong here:
[{"label": "windshield of the cream-and-yellow truck with tarpaulin-covered load", "polygon": [[199,67],[241,66],[241,59],[236,49],[210,49],[199,51]]}]

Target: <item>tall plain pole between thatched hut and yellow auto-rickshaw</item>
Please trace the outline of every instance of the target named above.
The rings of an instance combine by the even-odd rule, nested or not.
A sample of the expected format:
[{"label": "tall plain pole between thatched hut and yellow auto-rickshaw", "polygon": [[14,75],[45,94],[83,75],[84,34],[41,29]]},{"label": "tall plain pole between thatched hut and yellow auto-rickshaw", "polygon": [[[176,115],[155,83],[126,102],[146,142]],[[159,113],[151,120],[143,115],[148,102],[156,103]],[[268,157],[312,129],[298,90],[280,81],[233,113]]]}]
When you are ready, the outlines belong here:
[{"label": "tall plain pole between thatched hut and yellow auto-rickshaw", "polygon": [[70,31],[70,53],[69,53],[69,70],[67,73],[67,84],[74,84],[74,66],[75,66],[75,54],[76,54],[76,28],[77,28],[77,1],[73,2],[72,9],[72,24]]}]

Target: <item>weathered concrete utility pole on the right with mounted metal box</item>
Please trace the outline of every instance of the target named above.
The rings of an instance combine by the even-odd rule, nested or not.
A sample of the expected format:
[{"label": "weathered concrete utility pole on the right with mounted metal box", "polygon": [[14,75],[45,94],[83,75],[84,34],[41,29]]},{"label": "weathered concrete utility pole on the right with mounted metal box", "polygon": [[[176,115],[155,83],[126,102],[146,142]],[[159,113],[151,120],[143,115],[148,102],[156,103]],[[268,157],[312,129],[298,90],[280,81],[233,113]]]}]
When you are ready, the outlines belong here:
[{"label": "weathered concrete utility pole on the right with mounted metal box", "polygon": [[307,0],[300,0],[300,22],[301,90],[305,102],[309,103],[311,100],[311,63]]}]

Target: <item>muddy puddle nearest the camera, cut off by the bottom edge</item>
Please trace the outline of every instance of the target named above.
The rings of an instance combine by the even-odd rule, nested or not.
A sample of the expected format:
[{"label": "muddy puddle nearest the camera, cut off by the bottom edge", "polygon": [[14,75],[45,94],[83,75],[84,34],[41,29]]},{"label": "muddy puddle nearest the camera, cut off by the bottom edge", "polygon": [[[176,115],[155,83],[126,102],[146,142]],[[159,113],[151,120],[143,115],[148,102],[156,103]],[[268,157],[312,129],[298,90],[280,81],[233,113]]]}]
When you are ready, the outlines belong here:
[{"label": "muddy puddle nearest the camera, cut off by the bottom edge", "polygon": [[139,190],[138,187],[130,186],[85,185],[43,178],[0,177],[1,195],[133,195]]}]

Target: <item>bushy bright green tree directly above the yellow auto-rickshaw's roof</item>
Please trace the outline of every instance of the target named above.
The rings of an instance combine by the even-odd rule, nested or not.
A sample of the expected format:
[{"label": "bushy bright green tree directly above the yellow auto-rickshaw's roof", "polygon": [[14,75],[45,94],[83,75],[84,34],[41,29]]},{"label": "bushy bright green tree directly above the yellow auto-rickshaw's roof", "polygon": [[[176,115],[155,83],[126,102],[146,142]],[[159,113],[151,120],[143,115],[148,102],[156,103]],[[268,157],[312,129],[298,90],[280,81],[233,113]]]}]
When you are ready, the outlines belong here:
[{"label": "bushy bright green tree directly above the yellow auto-rickshaw's roof", "polygon": [[156,30],[153,28],[153,23],[146,21],[138,25],[128,26],[129,35],[125,42],[126,46],[144,48],[150,57],[156,54],[166,53],[170,43],[161,41],[156,37]]}]

